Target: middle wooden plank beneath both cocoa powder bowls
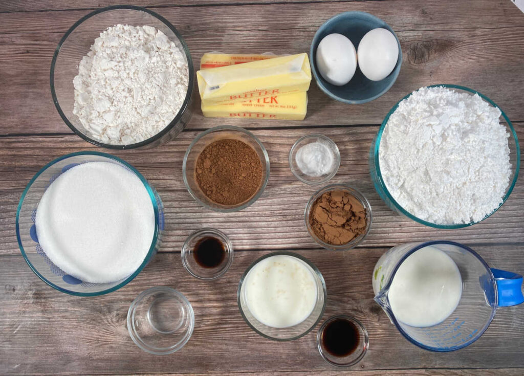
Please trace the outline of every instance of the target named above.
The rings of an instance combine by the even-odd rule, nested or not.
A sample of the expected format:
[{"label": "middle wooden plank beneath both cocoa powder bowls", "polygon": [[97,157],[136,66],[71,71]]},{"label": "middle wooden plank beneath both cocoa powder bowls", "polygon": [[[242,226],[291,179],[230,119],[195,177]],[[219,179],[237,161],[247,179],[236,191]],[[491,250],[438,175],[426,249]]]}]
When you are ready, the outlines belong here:
[{"label": "middle wooden plank beneath both cocoa powder bowls", "polygon": [[[341,151],[339,172],[329,183],[357,187],[373,208],[373,227],[363,246],[392,246],[405,241],[448,239],[463,242],[524,241],[524,186],[517,184],[508,202],[492,217],[459,230],[425,227],[392,212],[375,192],[368,172],[368,152],[378,126],[324,129],[254,130],[266,146],[271,176],[264,194],[241,212],[220,214],[200,207],[182,181],[185,150],[198,131],[184,131],[178,139],[145,151],[114,154],[133,164],[158,190],[166,212],[166,231],[161,251],[180,250],[195,229],[211,226],[225,231],[238,249],[313,248],[303,211],[320,187],[299,182],[291,173],[288,153],[300,136],[320,132],[331,137]],[[517,128],[524,139],[524,128]],[[0,139],[0,253],[18,253],[14,231],[19,197],[32,176],[47,162],[70,152],[98,150],[80,138],[10,137]]]}]

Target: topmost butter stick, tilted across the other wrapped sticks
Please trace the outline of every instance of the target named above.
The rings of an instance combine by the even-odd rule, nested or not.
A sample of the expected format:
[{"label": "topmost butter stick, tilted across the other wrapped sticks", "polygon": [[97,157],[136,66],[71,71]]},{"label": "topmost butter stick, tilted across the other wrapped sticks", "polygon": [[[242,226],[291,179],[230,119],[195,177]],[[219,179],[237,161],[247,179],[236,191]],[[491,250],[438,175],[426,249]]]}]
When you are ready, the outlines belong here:
[{"label": "topmost butter stick, tilted across the other wrapped sticks", "polygon": [[305,92],[311,82],[308,54],[281,56],[196,72],[200,98],[205,104]]}]

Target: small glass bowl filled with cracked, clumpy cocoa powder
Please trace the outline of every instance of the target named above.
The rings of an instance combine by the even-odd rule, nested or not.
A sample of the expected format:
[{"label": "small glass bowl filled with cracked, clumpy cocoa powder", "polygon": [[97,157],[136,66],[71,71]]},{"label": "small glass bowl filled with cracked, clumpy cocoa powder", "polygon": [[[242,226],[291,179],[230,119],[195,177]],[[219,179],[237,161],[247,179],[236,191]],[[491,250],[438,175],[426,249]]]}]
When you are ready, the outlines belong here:
[{"label": "small glass bowl filled with cracked, clumpy cocoa powder", "polygon": [[311,196],[304,212],[309,235],[326,249],[345,251],[359,245],[371,228],[371,205],[358,190],[331,184]]}]

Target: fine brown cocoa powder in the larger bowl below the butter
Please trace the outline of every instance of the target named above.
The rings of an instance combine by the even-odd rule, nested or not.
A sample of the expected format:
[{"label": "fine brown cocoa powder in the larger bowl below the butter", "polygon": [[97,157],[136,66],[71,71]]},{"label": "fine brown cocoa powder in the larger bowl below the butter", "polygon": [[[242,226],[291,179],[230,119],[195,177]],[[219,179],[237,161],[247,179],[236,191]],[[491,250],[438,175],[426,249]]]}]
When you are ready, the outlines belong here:
[{"label": "fine brown cocoa powder in the larger bowl below the butter", "polygon": [[260,157],[247,143],[222,139],[202,150],[196,159],[195,176],[211,201],[238,205],[258,191],[264,171]]}]

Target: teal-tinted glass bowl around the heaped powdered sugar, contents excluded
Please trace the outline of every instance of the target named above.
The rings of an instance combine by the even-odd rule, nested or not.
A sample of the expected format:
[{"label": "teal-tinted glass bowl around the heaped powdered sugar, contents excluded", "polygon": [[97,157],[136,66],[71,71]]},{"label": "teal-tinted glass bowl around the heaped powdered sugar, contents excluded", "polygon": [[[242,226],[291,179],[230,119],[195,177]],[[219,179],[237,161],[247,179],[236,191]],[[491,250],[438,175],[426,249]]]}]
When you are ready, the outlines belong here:
[{"label": "teal-tinted glass bowl around the heaped powdered sugar, contents excluded", "polygon": [[411,93],[409,93],[408,95],[406,95],[405,97],[403,97],[402,99],[400,99],[400,101],[398,101],[393,107],[391,107],[391,109],[389,110],[389,112],[387,113],[386,117],[384,118],[384,120],[382,121],[382,124],[380,125],[380,128],[377,132],[377,135],[376,135],[376,140],[374,142],[374,144],[372,143],[372,149],[373,149],[373,158],[374,158],[374,167],[375,167],[375,171],[376,171],[376,175],[377,175],[377,179],[380,183],[380,186],[381,188],[383,189],[384,191],[384,194],[386,195],[386,198],[388,200],[390,200],[390,202],[392,202],[394,205],[395,205],[395,208],[398,209],[403,215],[405,215],[406,217],[408,217],[409,219],[412,219],[414,220],[415,222],[418,222],[422,225],[425,225],[425,226],[429,226],[429,227],[433,227],[433,228],[439,228],[439,229],[455,229],[455,228],[464,228],[464,227],[469,227],[469,226],[473,226],[477,223],[480,223],[482,222],[483,220],[487,219],[488,217],[492,216],[495,212],[498,211],[498,209],[500,209],[500,207],[502,205],[504,205],[504,203],[506,202],[506,200],[509,198],[509,195],[511,194],[511,192],[513,191],[514,187],[515,187],[515,184],[517,183],[517,178],[519,176],[519,170],[520,170],[520,146],[519,146],[519,141],[518,141],[518,138],[517,138],[517,133],[515,132],[515,128],[513,127],[513,125],[511,124],[511,121],[509,120],[508,116],[506,115],[506,113],[495,103],[493,102],[491,99],[489,99],[487,96],[485,96],[484,94],[482,93],[479,93],[477,92],[476,90],[473,90],[473,89],[470,89],[469,87],[466,87],[466,86],[460,86],[460,85],[454,85],[454,84],[436,84],[436,85],[428,85],[428,86],[423,86],[423,87],[446,87],[447,89],[459,89],[459,90],[463,90],[465,92],[468,92],[468,93],[471,93],[473,95],[477,94],[479,97],[481,97],[482,99],[484,99],[484,101],[486,101],[488,104],[492,105],[493,107],[496,107],[500,110],[500,114],[501,116],[503,116],[504,120],[506,121],[506,124],[507,124],[507,127],[509,127],[509,133],[510,135],[513,137],[513,139],[515,140],[515,148],[516,148],[516,154],[517,154],[517,162],[515,164],[515,176],[513,177],[513,181],[510,182],[510,185],[509,185],[509,189],[508,191],[506,192],[506,194],[504,195],[503,197],[503,200],[502,202],[500,203],[500,205],[498,207],[496,207],[491,213],[489,213],[488,215],[486,215],[483,219],[479,220],[478,222],[470,222],[470,223],[462,223],[462,224],[446,224],[446,225],[439,225],[439,224],[436,224],[436,223],[432,223],[432,222],[428,222],[426,220],[423,220],[423,219],[420,219],[414,215],[412,215],[411,213],[409,213],[408,211],[406,211],[406,209],[404,209],[396,200],[395,198],[393,198],[393,196],[391,196],[391,194],[389,193],[387,187],[386,187],[386,183],[384,182],[384,179],[382,177],[382,173],[380,172],[380,161],[379,161],[379,147],[380,147],[380,140],[382,138],[382,135],[384,133],[384,129],[388,123],[388,120],[389,120],[389,117],[397,110],[398,108],[398,105],[400,104],[400,102],[402,102],[404,99],[407,99],[408,97],[410,97],[414,92],[420,90],[420,89],[417,89],[415,91],[412,91]]}]

